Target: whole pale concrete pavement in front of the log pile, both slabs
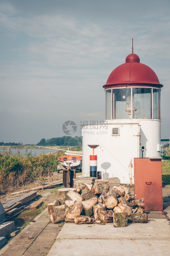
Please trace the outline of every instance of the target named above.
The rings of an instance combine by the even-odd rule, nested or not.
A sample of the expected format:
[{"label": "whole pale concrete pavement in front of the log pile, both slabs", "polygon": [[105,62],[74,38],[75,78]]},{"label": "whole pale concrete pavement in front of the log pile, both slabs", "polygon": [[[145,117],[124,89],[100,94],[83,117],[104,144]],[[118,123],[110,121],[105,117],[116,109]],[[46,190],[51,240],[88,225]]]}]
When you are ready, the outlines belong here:
[{"label": "whole pale concrete pavement in front of the log pile, both slabs", "polygon": [[125,228],[106,225],[65,223],[48,256],[169,256],[167,219],[150,219]]}]

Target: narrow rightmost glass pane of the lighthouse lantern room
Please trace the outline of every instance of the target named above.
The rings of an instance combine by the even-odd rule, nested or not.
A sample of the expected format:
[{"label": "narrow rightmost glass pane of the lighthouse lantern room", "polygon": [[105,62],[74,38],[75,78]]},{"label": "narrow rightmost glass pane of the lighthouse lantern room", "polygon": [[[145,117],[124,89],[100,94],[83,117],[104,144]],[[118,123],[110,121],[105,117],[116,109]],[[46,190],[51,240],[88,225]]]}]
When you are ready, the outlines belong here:
[{"label": "narrow rightmost glass pane of the lighthouse lantern room", "polygon": [[160,101],[161,91],[159,89],[153,89],[153,119],[161,120]]}]

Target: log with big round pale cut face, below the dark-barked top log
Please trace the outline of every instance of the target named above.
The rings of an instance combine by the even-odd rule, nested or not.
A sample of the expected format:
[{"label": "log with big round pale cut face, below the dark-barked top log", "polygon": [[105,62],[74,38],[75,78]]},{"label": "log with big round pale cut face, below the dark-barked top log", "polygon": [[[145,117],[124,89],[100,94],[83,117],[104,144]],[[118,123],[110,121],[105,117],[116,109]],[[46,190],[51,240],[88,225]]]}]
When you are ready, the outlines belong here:
[{"label": "log with big round pale cut face, below the dark-barked top log", "polygon": [[117,205],[117,196],[113,191],[102,193],[99,197],[99,203],[103,203],[108,209],[112,209]]}]

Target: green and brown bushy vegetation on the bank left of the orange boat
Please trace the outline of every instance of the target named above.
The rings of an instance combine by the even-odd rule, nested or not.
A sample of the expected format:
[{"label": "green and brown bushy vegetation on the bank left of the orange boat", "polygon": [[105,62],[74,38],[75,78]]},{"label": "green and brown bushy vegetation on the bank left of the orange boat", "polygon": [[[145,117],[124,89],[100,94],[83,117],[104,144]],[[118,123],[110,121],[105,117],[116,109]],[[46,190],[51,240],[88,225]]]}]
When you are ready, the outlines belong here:
[{"label": "green and brown bushy vegetation on the bank left of the orange boat", "polygon": [[9,187],[18,187],[25,183],[41,179],[44,174],[57,171],[58,157],[64,155],[63,151],[55,154],[41,154],[33,156],[28,152],[23,156],[3,151],[0,152],[0,189],[8,190]]}]

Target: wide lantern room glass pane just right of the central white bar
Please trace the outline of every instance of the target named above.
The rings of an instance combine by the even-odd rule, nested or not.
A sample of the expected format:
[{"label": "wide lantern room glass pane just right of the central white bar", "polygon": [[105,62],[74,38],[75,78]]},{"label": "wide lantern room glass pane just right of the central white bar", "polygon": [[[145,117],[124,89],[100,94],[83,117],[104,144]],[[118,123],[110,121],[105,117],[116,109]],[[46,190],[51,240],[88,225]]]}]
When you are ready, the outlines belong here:
[{"label": "wide lantern room glass pane just right of the central white bar", "polygon": [[151,89],[132,88],[132,118],[151,119]]}]

